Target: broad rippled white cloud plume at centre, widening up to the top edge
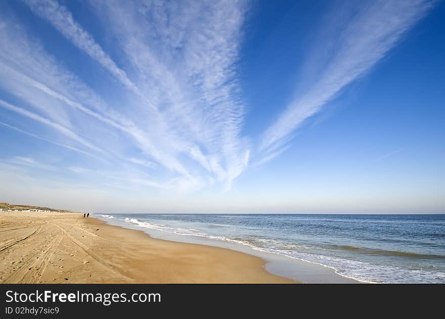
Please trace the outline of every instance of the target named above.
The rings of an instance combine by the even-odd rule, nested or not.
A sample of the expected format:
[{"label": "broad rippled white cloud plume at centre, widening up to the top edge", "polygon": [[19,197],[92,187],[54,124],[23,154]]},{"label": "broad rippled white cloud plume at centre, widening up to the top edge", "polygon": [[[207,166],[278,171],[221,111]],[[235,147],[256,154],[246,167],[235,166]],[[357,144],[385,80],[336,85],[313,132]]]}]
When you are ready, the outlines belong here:
[{"label": "broad rippled white cloud plume at centre, widening up to the top edge", "polygon": [[239,175],[247,149],[239,136],[244,108],[235,63],[245,4],[92,4],[106,12],[107,25],[137,71],[138,87],[163,108],[160,121],[169,123],[164,136],[173,150],[219,180]]}]

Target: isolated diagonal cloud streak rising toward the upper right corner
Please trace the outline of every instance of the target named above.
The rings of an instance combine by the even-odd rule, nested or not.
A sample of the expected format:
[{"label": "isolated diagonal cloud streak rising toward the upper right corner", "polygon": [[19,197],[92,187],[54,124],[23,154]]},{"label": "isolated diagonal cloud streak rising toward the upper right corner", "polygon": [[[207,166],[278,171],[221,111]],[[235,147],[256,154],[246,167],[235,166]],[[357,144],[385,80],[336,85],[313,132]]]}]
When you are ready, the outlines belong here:
[{"label": "isolated diagonal cloud streak rising toward the upper right corner", "polygon": [[[359,6],[357,13],[343,21],[344,25],[336,21],[325,26],[325,37],[329,38],[319,39],[320,42],[335,39],[335,45],[329,49],[327,59],[318,61],[323,68],[313,75],[317,80],[305,93],[296,96],[264,132],[259,146],[260,152],[266,153],[264,156],[270,156],[285,144],[306,119],[320,112],[345,86],[367,73],[425,15],[432,2],[374,1]],[[326,47],[321,44],[317,49],[323,51]]]}]

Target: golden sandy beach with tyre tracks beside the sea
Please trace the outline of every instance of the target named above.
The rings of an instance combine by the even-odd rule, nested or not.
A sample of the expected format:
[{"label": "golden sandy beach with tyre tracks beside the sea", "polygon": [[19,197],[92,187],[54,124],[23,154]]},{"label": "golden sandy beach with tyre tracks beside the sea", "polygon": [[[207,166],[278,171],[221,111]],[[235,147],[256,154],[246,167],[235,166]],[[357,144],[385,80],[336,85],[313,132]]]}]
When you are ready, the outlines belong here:
[{"label": "golden sandy beach with tyre tracks beside the sea", "polygon": [[0,212],[0,283],[295,283],[255,256],[82,216]]}]

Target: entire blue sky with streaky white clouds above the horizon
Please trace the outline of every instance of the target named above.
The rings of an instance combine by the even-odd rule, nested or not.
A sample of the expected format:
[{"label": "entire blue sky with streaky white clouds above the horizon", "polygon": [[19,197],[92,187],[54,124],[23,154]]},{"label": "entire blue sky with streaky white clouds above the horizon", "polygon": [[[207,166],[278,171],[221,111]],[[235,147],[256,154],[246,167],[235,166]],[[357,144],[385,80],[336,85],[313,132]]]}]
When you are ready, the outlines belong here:
[{"label": "entire blue sky with streaky white clouds above the horizon", "polygon": [[443,213],[433,1],[0,3],[0,200]]}]

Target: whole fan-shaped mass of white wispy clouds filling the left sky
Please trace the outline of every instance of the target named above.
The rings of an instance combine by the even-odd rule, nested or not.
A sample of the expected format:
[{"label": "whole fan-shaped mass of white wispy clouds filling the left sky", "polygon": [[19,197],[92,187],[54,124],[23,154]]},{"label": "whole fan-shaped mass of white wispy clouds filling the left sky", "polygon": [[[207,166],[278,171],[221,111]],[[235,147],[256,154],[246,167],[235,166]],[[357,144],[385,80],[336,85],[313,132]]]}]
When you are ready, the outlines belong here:
[{"label": "whole fan-shaped mass of white wispy clouds filling the left sky", "polygon": [[240,133],[244,105],[236,72],[244,2],[92,2],[114,37],[113,56],[123,57],[119,62],[64,5],[24,2],[122,84],[121,100],[107,100],[88,87],[61,57],[48,54],[32,31],[3,17],[0,86],[24,103],[1,101],[1,107],[85,147],[76,149],[112,156],[120,167],[159,164],[167,172],[150,182],[153,187],[196,190],[218,181],[231,188],[250,153]]}]

